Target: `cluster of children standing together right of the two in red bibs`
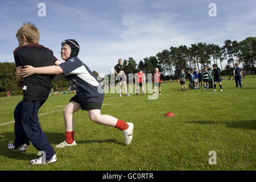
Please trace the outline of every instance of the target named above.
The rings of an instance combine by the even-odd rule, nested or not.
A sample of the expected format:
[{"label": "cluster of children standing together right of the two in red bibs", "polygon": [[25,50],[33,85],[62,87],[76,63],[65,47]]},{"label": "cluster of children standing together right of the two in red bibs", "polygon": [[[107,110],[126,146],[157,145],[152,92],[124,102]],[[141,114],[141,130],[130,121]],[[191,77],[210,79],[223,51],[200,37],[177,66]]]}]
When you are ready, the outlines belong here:
[{"label": "cluster of children standing together right of the two in red bibs", "polygon": [[[218,68],[217,64],[213,64],[213,73],[214,73],[214,89],[213,91],[216,91],[216,85],[217,82],[220,85],[220,90],[222,91],[222,85],[221,85],[221,69]],[[195,67],[194,70],[191,70],[189,73],[189,86],[191,89],[199,89],[199,86],[203,86],[203,90],[212,88],[212,70],[209,67],[204,67],[203,73],[201,71],[197,71],[197,68]],[[187,92],[187,86],[185,85],[185,73],[184,69],[181,69],[181,72],[179,74],[179,81],[181,84],[181,92],[183,92],[183,88],[185,88],[185,91]],[[203,81],[203,83],[202,83]]]}]

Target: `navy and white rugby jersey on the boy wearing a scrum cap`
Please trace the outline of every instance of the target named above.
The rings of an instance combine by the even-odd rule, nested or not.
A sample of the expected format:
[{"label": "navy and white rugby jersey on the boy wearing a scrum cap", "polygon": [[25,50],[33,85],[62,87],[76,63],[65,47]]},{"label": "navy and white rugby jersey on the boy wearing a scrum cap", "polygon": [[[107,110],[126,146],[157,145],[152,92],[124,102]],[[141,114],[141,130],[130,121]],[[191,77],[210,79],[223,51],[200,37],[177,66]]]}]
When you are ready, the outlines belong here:
[{"label": "navy and white rugby jersey on the boy wearing a scrum cap", "polygon": [[104,100],[102,84],[77,56],[59,64],[59,67],[63,69],[64,76],[76,90],[77,96],[82,102],[102,102]]}]

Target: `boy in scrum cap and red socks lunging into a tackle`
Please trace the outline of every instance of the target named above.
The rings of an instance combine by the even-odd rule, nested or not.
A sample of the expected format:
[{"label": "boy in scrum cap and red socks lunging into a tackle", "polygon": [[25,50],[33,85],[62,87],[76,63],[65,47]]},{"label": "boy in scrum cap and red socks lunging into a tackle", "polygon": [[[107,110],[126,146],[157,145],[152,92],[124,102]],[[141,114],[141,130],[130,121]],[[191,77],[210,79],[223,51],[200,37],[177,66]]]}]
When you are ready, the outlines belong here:
[{"label": "boy in scrum cap and red socks lunging into a tackle", "polygon": [[127,123],[111,115],[101,114],[101,105],[104,100],[102,85],[97,77],[90,71],[78,57],[79,44],[74,39],[67,39],[61,43],[61,59],[65,62],[59,66],[34,68],[26,66],[22,69],[21,76],[27,77],[34,74],[64,76],[76,90],[76,95],[71,98],[64,109],[65,141],[58,144],[57,148],[76,146],[74,139],[74,118],[73,114],[81,109],[87,110],[89,118],[100,125],[113,126],[121,130],[125,138],[125,144],[130,144],[133,139],[133,123]]}]

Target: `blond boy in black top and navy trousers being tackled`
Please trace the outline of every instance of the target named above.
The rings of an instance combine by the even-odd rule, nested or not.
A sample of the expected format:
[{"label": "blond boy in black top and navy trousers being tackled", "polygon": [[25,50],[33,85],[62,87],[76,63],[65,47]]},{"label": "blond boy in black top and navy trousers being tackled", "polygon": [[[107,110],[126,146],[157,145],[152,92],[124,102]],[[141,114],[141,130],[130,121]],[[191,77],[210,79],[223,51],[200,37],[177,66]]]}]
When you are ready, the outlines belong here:
[{"label": "blond boy in black top and navy trousers being tackled", "polygon": [[[23,86],[23,100],[15,107],[14,110],[14,143],[8,144],[10,150],[26,151],[27,146],[32,145],[39,151],[46,154],[46,163],[56,162],[55,151],[49,143],[46,134],[44,134],[38,119],[38,110],[44,104],[51,90],[51,75],[32,75],[22,80],[19,77],[20,69],[24,65],[34,65],[35,67],[43,67],[47,65],[59,64],[60,61],[53,56],[53,52],[39,45],[24,36],[26,30],[31,29],[32,34],[37,35],[39,31],[34,25],[24,24],[17,32],[19,47],[14,50],[14,59],[16,64],[16,79],[20,86]],[[23,29],[22,29],[23,28]],[[34,36],[35,37],[35,36]],[[23,81],[23,84],[21,82]],[[30,161],[31,164],[43,164],[42,161],[37,162],[35,159]]]}]

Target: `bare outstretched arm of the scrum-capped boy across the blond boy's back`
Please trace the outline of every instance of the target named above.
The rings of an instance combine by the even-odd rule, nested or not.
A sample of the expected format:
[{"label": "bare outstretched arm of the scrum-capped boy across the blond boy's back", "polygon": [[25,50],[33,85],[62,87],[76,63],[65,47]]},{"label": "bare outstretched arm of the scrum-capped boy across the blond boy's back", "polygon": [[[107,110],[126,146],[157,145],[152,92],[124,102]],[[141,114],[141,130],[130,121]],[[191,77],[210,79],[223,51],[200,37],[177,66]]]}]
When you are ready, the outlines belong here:
[{"label": "bare outstretched arm of the scrum-capped boy across the blond boy's back", "polygon": [[20,76],[28,77],[34,74],[40,75],[59,75],[62,74],[63,70],[59,66],[49,66],[49,67],[32,67],[30,65],[24,66],[23,69],[20,70]]}]

